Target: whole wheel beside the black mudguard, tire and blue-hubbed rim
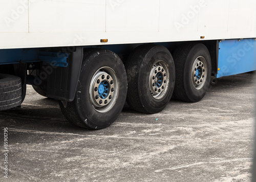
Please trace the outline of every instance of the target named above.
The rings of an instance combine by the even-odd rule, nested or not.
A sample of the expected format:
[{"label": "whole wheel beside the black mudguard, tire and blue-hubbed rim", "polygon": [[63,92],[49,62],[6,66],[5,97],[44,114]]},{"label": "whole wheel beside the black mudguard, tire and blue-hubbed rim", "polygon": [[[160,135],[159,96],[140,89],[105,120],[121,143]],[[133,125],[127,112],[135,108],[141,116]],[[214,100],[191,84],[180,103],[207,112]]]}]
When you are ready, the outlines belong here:
[{"label": "whole wheel beside the black mudguard, tire and blue-hubbed rim", "polygon": [[74,125],[102,129],[117,119],[126,93],[127,76],[121,59],[104,49],[84,50],[75,99],[67,107],[59,105]]}]

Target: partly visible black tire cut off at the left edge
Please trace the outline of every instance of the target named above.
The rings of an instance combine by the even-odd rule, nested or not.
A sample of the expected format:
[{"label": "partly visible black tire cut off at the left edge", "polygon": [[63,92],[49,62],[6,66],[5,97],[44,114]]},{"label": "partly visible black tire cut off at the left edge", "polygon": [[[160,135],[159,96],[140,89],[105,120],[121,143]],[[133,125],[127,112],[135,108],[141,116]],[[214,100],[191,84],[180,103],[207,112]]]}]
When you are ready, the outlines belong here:
[{"label": "partly visible black tire cut off at the left edge", "polygon": [[0,74],[0,110],[22,104],[22,80],[19,77]]}]

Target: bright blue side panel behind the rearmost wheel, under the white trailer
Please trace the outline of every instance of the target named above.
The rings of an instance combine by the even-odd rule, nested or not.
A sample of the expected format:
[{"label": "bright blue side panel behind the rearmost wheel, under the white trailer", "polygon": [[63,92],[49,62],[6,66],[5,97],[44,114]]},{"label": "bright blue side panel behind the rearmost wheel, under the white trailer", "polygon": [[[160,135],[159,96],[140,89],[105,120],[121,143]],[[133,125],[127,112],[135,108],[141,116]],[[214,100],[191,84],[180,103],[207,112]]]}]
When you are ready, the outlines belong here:
[{"label": "bright blue side panel behind the rearmost wheel, under the white trailer", "polygon": [[217,78],[256,70],[256,41],[223,40],[219,44]]}]

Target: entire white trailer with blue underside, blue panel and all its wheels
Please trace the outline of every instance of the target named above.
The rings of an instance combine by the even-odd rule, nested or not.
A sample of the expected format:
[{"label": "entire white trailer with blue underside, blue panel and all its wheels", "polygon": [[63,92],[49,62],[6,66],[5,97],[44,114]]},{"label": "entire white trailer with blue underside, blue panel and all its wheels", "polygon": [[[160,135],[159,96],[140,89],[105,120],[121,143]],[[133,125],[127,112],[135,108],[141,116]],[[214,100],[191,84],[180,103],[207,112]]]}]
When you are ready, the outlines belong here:
[{"label": "entire white trailer with blue underside, blue panel and all its wheels", "polygon": [[26,84],[73,124],[111,125],[125,101],[156,113],[256,70],[254,0],[0,1],[0,110]]}]

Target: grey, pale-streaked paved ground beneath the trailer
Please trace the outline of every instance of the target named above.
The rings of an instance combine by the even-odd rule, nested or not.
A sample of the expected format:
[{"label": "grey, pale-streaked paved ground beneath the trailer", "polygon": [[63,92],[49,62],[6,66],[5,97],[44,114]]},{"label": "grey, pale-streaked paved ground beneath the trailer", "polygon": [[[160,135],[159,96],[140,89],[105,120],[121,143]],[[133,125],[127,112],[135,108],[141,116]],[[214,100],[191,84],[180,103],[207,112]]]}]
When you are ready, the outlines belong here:
[{"label": "grey, pale-streaked paved ground beneath the trailer", "polygon": [[250,181],[255,88],[252,73],[225,77],[198,103],[171,100],[155,115],[126,108],[90,131],[28,87],[21,108],[0,112],[10,151],[0,181]]}]

